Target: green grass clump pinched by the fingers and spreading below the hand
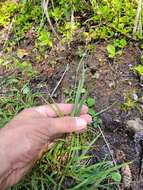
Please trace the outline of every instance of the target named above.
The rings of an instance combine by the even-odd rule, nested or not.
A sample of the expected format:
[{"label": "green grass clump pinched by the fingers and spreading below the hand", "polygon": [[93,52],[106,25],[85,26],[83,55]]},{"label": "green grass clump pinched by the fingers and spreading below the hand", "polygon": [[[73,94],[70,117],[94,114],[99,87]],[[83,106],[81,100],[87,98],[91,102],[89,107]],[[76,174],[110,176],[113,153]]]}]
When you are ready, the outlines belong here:
[{"label": "green grass clump pinched by the fingers and spreading below the hand", "polygon": [[[85,102],[85,97],[82,97],[85,80],[83,61],[80,62],[79,72],[82,74],[75,92],[72,116],[79,116]],[[47,102],[45,98],[43,100]],[[62,116],[56,103],[54,110],[59,117]],[[93,146],[95,148],[100,135],[100,132],[92,128],[83,134],[72,134],[59,139],[58,143],[38,162],[32,173],[12,189],[108,189],[119,184],[121,176],[118,169],[121,166],[114,166],[112,161],[105,160],[91,164],[96,155],[93,156],[89,152]]]}]

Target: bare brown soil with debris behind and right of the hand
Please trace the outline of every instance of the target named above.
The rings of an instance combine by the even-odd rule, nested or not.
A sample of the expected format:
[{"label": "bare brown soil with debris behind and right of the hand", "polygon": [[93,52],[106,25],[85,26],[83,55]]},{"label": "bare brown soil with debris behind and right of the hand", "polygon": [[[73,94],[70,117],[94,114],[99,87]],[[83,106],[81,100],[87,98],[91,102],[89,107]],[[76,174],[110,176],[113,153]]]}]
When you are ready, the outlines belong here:
[{"label": "bare brown soil with debris behind and right of the hand", "polygon": [[[143,189],[143,181],[137,180],[139,171],[139,160],[136,157],[133,135],[126,129],[126,122],[137,117],[143,119],[142,102],[137,108],[123,110],[122,105],[128,93],[140,98],[143,89],[140,85],[139,77],[131,70],[140,63],[141,50],[139,44],[130,42],[121,55],[117,55],[113,60],[109,59],[106,46],[109,42],[95,43],[95,51],[85,60],[87,68],[86,88],[91,97],[96,100],[95,111],[107,108],[114,104],[111,109],[102,113],[99,117],[102,120],[101,129],[110,145],[110,149],[117,163],[133,161],[130,165],[133,184],[132,189]],[[65,101],[64,89],[73,89],[75,82],[75,72],[79,63],[77,48],[83,48],[83,43],[75,41],[70,47],[61,47],[60,44],[50,52],[45,54],[44,61],[35,63],[35,53],[32,42],[25,41],[20,48],[27,47],[30,54],[24,57],[32,62],[33,67],[38,70],[39,75],[31,81],[33,92],[42,91],[51,93],[60,80],[66,65],[70,68],[66,72],[64,79],[58,87],[54,98],[59,102]],[[53,64],[56,63],[56,64]],[[5,71],[1,69],[1,74]],[[110,156],[109,150],[100,138],[96,149],[92,152],[97,159]]]}]

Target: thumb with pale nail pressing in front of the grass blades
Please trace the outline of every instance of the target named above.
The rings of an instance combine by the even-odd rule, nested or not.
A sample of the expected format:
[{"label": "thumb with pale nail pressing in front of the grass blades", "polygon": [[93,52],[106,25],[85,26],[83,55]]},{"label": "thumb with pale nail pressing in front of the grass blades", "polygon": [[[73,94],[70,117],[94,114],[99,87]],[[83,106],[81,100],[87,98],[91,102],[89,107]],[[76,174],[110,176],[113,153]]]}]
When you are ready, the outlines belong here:
[{"label": "thumb with pale nail pressing in front of the grass blades", "polygon": [[[64,133],[83,131],[87,128],[87,121],[81,117],[49,118],[47,134],[50,137],[60,136]],[[50,125],[49,125],[50,124]]]}]

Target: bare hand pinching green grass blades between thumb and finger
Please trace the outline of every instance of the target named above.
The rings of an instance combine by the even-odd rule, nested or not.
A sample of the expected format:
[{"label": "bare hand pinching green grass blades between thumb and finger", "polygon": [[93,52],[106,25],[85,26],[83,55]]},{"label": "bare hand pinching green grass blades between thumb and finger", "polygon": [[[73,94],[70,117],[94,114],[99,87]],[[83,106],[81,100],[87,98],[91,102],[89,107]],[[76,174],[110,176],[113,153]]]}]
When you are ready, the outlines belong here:
[{"label": "bare hand pinching green grass blades between thumb and finger", "polygon": [[58,137],[80,133],[91,123],[86,106],[79,117],[71,117],[72,104],[57,105],[64,117],[43,105],[23,110],[0,129],[0,190],[16,184]]}]

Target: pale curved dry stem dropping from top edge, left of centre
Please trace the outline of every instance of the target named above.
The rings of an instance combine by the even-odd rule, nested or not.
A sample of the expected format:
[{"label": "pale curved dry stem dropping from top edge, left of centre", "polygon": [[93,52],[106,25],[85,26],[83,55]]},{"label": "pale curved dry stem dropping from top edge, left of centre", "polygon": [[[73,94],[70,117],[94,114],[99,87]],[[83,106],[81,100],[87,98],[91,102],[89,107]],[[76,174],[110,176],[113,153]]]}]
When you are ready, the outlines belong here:
[{"label": "pale curved dry stem dropping from top edge, left of centre", "polygon": [[57,39],[60,41],[60,37],[58,36],[57,32],[55,31],[53,25],[52,25],[52,22],[50,20],[50,17],[49,17],[49,12],[48,12],[48,4],[49,4],[49,0],[43,0],[43,3],[42,3],[42,7],[43,7],[43,11],[44,11],[44,14],[46,15],[47,17],[47,21],[51,27],[51,30],[52,32],[54,33],[54,35],[57,37]]}]

